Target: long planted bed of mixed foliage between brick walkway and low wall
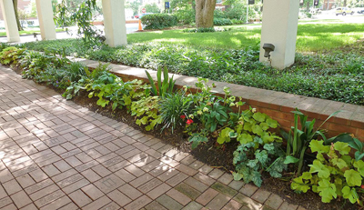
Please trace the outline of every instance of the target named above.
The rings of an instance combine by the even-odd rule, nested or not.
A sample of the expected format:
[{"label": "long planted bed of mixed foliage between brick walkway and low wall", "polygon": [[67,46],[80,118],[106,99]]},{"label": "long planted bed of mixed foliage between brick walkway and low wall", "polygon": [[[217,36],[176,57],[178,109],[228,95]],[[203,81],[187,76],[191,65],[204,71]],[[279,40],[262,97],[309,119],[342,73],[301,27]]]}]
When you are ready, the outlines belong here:
[{"label": "long planted bed of mixed foliage between brick walkway and low wall", "polygon": [[[345,195],[339,195],[341,188],[338,188],[338,196],[345,197],[346,200],[334,199],[330,204],[318,202],[314,205],[307,204],[307,200],[299,202],[308,209],[326,209],[328,206],[328,209],[336,209],[344,205],[348,205],[345,206],[348,209],[354,209],[358,205],[350,205],[348,199],[351,203],[362,199],[362,195],[358,195],[363,193],[360,188],[363,186],[361,176],[364,176],[362,155],[357,157],[356,154],[356,159],[352,159],[349,152],[353,145],[339,140],[334,143],[336,139],[326,139],[322,131],[313,128],[314,123],[305,123],[306,116],[298,111],[294,114],[295,127],[292,130],[295,140],[285,136],[289,143],[285,152],[282,138],[276,134],[277,121],[269,115],[260,113],[254,107],[240,110],[244,105],[242,99],[230,95],[228,88],[223,88],[225,93],[223,96],[213,95],[207,79],[197,80],[196,92],[188,87],[177,92],[173,88],[175,82],[173,78],[169,78],[167,69],[163,70],[163,82],[162,69],[157,72],[156,82],[146,72],[150,81],[148,85],[140,80],[123,82],[116,75],[110,74],[106,70],[106,65],[99,65],[90,71],[82,64],[71,63],[65,56],[25,52],[15,47],[6,48],[1,53],[0,61],[2,64],[17,66],[20,64],[25,70],[23,75],[25,78],[61,90],[66,89],[64,96],[67,99],[73,98],[77,103],[86,105],[97,113],[116,117],[143,132],[147,130],[147,134],[156,135],[177,146],[178,149],[196,155],[198,160],[208,165],[234,171],[233,175],[237,180],[244,179],[245,182],[258,186],[262,181],[268,180],[269,184],[263,187],[269,190],[274,188],[279,195],[288,195],[294,203],[300,201],[301,196],[304,199],[309,198],[309,201],[319,200],[319,196],[308,191],[311,186],[316,193],[324,192],[320,195],[322,201],[326,203],[337,198],[336,185],[343,187],[342,193]],[[237,107],[238,112],[234,112],[232,106]],[[132,115],[127,115],[129,113]],[[299,128],[298,116],[302,125],[310,128]],[[174,133],[171,132],[171,127],[176,128]],[[298,129],[303,131],[298,132]],[[319,135],[322,135],[325,141],[316,140]],[[348,134],[343,136],[350,138],[351,141],[355,140]],[[297,141],[296,137],[300,141]],[[308,145],[312,152],[318,153],[316,159],[313,154],[306,154]],[[298,146],[300,150],[297,150]],[[194,147],[196,149],[191,150]],[[293,151],[290,150],[292,148]],[[360,152],[362,153],[361,149]],[[312,160],[315,160],[309,165],[310,161],[307,160],[311,156]],[[298,165],[298,162],[303,165]],[[309,172],[307,165],[310,167]],[[301,168],[304,173],[299,176]],[[296,173],[299,177],[294,178]],[[269,178],[270,176],[276,179],[272,181],[273,178]],[[337,183],[338,178],[341,184]],[[288,182],[281,182],[280,179],[286,179]],[[287,193],[288,185],[290,188],[308,193],[302,195],[296,195],[293,191]],[[316,190],[314,187],[317,187]],[[348,188],[356,197],[351,193],[348,196]],[[315,195],[316,198],[310,195]]]}]

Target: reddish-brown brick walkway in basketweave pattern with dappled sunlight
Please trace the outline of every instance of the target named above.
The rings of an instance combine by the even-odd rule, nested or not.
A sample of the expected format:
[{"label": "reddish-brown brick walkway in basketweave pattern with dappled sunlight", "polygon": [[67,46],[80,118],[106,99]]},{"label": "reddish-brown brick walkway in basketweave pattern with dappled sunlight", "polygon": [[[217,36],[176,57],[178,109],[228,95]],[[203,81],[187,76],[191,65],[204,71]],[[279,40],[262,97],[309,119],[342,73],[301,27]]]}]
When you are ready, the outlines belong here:
[{"label": "reddish-brown brick walkway in basketweave pattern with dappled sunlight", "polygon": [[0,209],[303,209],[4,66],[0,116]]}]

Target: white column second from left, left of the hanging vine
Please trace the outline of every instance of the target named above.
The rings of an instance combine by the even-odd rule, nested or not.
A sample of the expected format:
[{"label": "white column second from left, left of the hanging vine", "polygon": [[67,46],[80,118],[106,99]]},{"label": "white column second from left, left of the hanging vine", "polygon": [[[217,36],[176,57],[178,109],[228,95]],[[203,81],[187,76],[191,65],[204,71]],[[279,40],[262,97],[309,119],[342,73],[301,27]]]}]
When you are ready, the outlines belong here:
[{"label": "white column second from left, left of the hanging vine", "polygon": [[56,39],[56,25],[53,19],[52,1],[35,0],[42,40]]}]

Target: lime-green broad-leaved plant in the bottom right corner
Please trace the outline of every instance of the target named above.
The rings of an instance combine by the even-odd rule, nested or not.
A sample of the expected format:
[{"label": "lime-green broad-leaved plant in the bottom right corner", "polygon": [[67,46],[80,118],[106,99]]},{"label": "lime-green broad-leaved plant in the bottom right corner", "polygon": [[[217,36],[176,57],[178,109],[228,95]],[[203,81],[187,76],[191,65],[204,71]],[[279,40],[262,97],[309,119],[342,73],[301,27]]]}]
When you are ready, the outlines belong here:
[{"label": "lime-green broad-leaved plant in the bottom right corner", "polygon": [[309,172],[293,179],[291,188],[298,193],[312,189],[324,203],[342,196],[352,204],[362,205],[358,193],[364,177],[364,162],[351,158],[349,144],[324,145],[324,141],[312,140],[309,147],[318,153],[316,160],[309,165]]}]

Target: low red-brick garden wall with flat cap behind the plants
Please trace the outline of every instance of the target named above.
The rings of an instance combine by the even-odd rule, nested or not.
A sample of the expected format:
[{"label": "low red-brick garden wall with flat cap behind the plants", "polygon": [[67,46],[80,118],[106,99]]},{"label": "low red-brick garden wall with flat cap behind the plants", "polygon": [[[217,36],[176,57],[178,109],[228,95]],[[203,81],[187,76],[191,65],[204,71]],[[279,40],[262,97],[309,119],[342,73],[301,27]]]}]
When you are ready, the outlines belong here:
[{"label": "low red-brick garden wall with flat cap behind the plants", "polygon": [[[87,60],[84,58],[72,57],[71,59],[81,62],[89,68],[96,68],[99,64],[107,64],[105,62]],[[150,69],[115,64],[110,64],[109,67],[111,73],[120,76],[126,81],[140,79],[148,82],[147,75],[145,73],[146,70],[150,73],[150,75],[152,75],[152,77],[157,78],[157,71]],[[177,88],[181,88],[184,85],[194,87],[197,83],[197,77],[176,74],[169,75],[174,75]],[[257,87],[209,81],[209,84],[212,83],[216,85],[216,87],[212,89],[213,93],[217,95],[224,95],[224,86],[229,87],[231,95],[242,97],[242,100],[246,102],[243,109],[248,108],[249,105],[254,106],[258,109],[258,112],[265,113],[277,120],[281,127],[285,130],[288,130],[290,126],[294,125],[294,117],[291,111],[293,111],[296,107],[303,114],[308,115],[308,119],[311,120],[315,118],[317,120],[316,125],[321,125],[329,117],[329,115],[341,110],[338,115],[331,117],[321,128],[328,130],[329,137],[339,135],[341,133],[350,133],[364,142],[363,105],[350,105],[337,101],[287,94],[278,91],[260,89]]]}]

